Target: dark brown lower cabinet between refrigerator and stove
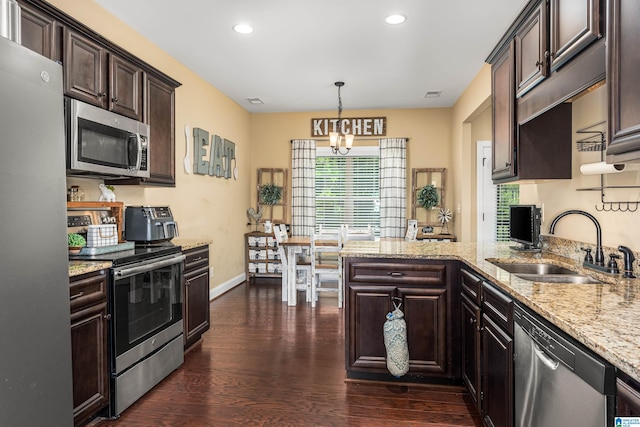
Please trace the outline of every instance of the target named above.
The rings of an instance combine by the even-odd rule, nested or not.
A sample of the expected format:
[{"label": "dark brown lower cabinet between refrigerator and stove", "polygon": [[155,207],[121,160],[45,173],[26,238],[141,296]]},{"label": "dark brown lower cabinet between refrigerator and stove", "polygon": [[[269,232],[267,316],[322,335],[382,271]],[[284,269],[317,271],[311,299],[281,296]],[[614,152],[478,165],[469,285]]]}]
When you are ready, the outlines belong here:
[{"label": "dark brown lower cabinet between refrigerator and stove", "polygon": [[73,419],[79,426],[109,405],[106,271],[70,281]]}]

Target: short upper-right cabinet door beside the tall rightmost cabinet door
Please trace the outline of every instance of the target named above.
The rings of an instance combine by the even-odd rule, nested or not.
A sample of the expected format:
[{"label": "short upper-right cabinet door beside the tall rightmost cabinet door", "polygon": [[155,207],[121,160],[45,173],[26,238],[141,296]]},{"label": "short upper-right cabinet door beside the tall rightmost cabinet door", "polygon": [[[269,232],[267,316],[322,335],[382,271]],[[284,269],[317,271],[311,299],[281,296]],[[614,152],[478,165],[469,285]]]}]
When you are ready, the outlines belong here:
[{"label": "short upper-right cabinet door beside the tall rightmost cabinet door", "polygon": [[600,37],[600,0],[551,0],[550,27],[555,71]]}]

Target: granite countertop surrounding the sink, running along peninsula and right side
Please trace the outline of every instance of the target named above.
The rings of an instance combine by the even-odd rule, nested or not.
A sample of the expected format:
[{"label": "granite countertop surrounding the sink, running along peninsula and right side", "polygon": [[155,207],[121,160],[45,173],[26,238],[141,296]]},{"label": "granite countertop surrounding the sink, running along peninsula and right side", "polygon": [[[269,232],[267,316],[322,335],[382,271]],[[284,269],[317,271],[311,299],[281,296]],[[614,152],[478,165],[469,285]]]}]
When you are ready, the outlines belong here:
[{"label": "granite countertop surrounding the sink, running along peninsula and right side", "polygon": [[[513,244],[513,243],[510,243]],[[403,239],[348,242],[343,257],[458,259],[614,366],[640,381],[640,279],[584,269],[551,253],[519,253],[508,243],[423,243]],[[520,279],[487,261],[544,262],[568,267],[602,284],[540,283]]]}]

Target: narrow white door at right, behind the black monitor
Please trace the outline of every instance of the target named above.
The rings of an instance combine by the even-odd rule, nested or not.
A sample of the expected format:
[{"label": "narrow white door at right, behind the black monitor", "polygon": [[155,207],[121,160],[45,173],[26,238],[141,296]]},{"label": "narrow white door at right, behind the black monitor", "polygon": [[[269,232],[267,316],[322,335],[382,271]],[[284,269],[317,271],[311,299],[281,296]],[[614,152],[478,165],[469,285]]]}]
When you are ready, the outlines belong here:
[{"label": "narrow white door at right, behind the black monitor", "polygon": [[478,243],[496,241],[496,186],[491,180],[491,141],[478,141],[476,155]]}]

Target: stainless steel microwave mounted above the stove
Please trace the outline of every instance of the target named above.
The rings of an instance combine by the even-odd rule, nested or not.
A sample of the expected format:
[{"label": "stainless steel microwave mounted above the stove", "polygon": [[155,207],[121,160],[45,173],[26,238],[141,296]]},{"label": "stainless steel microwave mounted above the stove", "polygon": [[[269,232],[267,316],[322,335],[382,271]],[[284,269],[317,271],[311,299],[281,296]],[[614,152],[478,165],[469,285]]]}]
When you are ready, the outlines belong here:
[{"label": "stainless steel microwave mounted above the stove", "polygon": [[67,175],[149,177],[149,125],[64,100]]}]

